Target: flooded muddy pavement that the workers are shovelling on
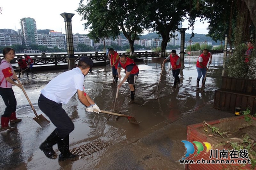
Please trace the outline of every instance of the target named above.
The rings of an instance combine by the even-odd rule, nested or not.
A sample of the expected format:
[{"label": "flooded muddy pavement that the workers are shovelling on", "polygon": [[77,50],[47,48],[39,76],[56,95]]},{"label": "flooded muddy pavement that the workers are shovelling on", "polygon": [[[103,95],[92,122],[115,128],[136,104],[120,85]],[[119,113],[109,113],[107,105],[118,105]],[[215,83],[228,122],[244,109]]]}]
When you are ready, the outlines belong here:
[{"label": "flooded muddy pavement that the workers are shovelling on", "polygon": [[[115,117],[112,116],[109,121],[106,121],[107,114],[87,113],[85,106],[80,103],[77,95],[74,95],[67,105],[63,105],[63,108],[75,125],[74,131],[70,134],[70,150],[80,156],[80,160],[75,162],[59,163],[58,160],[46,158],[39,150],[39,145],[55,127],[52,123],[46,127],[40,127],[32,119],[35,117],[34,113],[22,90],[14,86],[13,90],[18,103],[17,115],[22,118],[22,122],[15,125],[17,130],[14,132],[0,132],[1,169],[104,169],[107,164],[104,161],[107,160],[106,155],[114,152],[120,146],[128,147],[128,144],[134,139],[152,132],[152,128],[154,131],[156,125],[161,125],[165,121],[175,122],[182,117],[182,113],[214,98],[214,90],[219,88],[221,83],[223,54],[213,55],[212,65],[207,74],[205,93],[196,93],[196,60],[197,56],[186,56],[183,76],[180,78],[181,84],[177,89],[171,89],[174,78],[171,75],[172,72],[168,71],[170,63],[166,63],[158,92],[156,92],[156,88],[161,64],[152,63],[150,59],[144,59],[144,62],[137,63],[140,73],[136,82],[135,103],[128,105],[130,91],[128,84],[124,83],[119,91],[116,110],[118,113],[135,117],[140,125],[130,124],[123,117],[115,121]],[[37,72],[29,75],[29,78],[26,75],[21,76],[20,81],[39,115],[44,115],[37,106],[40,90],[63,71],[66,70]],[[84,80],[86,93],[92,97],[101,110],[112,111],[116,89],[111,87],[110,66],[94,67],[93,71],[94,73],[87,75]],[[123,69],[121,75],[124,77]],[[0,99],[1,113],[4,108],[4,102]],[[46,115],[44,116],[46,117]],[[58,151],[56,145],[54,150]],[[111,155],[109,156],[111,157]],[[122,159],[137,159],[136,157],[130,158],[129,155],[127,155],[128,157],[122,156]],[[103,163],[99,163],[100,160]],[[120,169],[135,168],[135,166],[128,167],[124,166]],[[155,168],[159,167],[158,165]],[[147,168],[137,167],[135,169]]]}]

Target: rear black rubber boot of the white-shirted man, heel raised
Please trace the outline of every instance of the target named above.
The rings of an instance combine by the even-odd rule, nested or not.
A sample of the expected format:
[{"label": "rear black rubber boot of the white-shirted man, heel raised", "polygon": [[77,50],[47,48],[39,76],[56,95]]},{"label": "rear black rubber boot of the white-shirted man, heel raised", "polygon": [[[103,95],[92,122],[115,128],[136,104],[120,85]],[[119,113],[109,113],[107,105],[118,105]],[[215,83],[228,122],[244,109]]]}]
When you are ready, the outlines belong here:
[{"label": "rear black rubber boot of the white-shirted man, heel raised", "polygon": [[52,146],[60,140],[61,138],[58,136],[57,129],[55,129],[39,148],[44,152],[47,158],[56,159],[58,155],[54,152]]}]

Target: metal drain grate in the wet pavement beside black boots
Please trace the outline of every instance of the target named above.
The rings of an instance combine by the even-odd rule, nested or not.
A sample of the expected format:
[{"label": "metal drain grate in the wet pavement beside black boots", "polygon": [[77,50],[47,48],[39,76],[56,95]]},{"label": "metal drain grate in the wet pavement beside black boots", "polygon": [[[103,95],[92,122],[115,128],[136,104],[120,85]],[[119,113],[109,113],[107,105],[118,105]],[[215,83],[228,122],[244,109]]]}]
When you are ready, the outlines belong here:
[{"label": "metal drain grate in the wet pavement beside black boots", "polygon": [[110,144],[107,142],[97,140],[94,142],[81,145],[77,148],[73,148],[70,152],[72,154],[78,154],[79,156],[89,156],[95,152],[102,150],[103,148],[106,148],[109,145]]}]

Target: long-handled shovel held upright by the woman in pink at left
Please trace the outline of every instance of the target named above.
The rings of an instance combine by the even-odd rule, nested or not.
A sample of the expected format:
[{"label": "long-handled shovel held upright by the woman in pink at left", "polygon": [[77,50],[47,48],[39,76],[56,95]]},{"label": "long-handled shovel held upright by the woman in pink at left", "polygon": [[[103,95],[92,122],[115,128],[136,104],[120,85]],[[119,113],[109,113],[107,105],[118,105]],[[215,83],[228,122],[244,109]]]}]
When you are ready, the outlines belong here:
[{"label": "long-handled shovel held upright by the woman in pink at left", "polygon": [[30,99],[28,98],[28,95],[27,95],[26,91],[24,90],[22,84],[20,83],[20,80],[18,79],[15,71],[14,71],[14,77],[16,78],[18,83],[21,85],[21,89],[22,89],[24,95],[26,96],[28,103],[30,104],[34,114],[36,115],[36,117],[33,118],[34,121],[36,121],[41,127],[45,127],[46,125],[48,125],[50,123],[50,121],[48,121],[43,115],[39,115],[39,116],[37,115],[36,110],[35,110],[34,106],[32,105]]}]

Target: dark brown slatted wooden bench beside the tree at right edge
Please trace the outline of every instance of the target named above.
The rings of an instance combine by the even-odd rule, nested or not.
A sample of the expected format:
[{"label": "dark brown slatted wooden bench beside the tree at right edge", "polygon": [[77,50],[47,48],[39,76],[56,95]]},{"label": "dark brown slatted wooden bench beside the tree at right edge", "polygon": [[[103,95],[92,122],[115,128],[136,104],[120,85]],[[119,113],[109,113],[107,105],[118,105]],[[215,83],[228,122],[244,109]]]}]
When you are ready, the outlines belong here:
[{"label": "dark brown slatted wooden bench beside the tree at right edge", "polygon": [[234,113],[236,107],[256,113],[255,79],[222,77],[222,87],[215,90],[214,108]]}]

